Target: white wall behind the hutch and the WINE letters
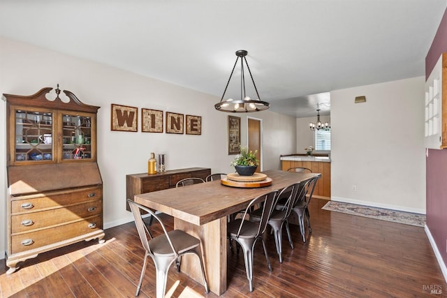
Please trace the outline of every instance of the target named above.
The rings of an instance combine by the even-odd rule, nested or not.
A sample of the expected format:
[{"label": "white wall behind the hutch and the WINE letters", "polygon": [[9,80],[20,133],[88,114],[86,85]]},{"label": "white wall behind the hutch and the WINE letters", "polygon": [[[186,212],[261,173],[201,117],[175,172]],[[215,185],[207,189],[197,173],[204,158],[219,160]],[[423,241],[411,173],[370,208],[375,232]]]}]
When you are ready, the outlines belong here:
[{"label": "white wall behind the hutch and the WINE letters", "polygon": [[[104,226],[131,221],[126,211],[126,174],[147,171],[151,152],[166,154],[166,169],[211,167],[233,172],[228,156],[227,113],[214,110],[219,98],[173,84],[0,38],[0,94],[31,95],[43,87],[72,91],[98,105],[98,165],[103,178]],[[224,84],[225,82],[222,82]],[[110,104],[138,107],[138,133],[110,131]],[[140,108],[202,117],[202,135],[142,133]],[[247,144],[247,115],[241,117]],[[270,111],[251,113],[263,121],[264,170],[279,169],[279,155],[295,150],[295,119]],[[0,251],[6,248],[6,103],[0,100]],[[3,258],[3,255],[0,256]]]}]

